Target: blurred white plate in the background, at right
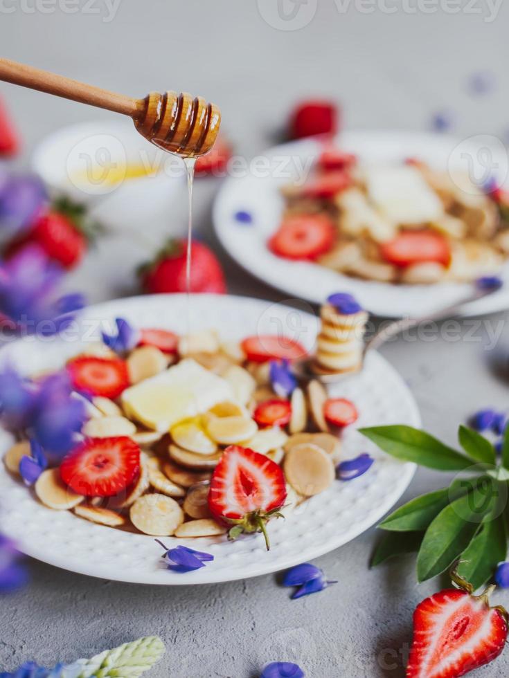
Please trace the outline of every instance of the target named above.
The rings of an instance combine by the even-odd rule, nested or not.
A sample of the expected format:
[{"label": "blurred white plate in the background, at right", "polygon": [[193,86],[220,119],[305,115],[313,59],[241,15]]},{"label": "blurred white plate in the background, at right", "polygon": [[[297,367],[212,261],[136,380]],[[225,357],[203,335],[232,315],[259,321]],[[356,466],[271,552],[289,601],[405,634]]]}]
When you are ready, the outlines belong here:
[{"label": "blurred white plate in the background, at right", "polygon": [[[356,154],[366,163],[395,163],[414,156],[431,167],[449,172],[473,172],[481,181],[488,157],[489,176],[503,183],[507,178],[508,154],[492,137],[458,140],[436,134],[386,131],[345,132],[338,139],[341,149]],[[273,255],[267,239],[278,228],[283,210],[279,189],[309,170],[320,144],[313,139],[281,145],[267,151],[262,161],[251,163],[249,172],[231,177],[223,185],[214,207],[214,224],[224,248],[239,264],[261,280],[285,291],[289,297],[318,304],[333,292],[348,291],[377,315],[399,318],[425,314],[461,301],[470,293],[465,284],[393,285],[347,277],[307,262],[292,262]],[[488,156],[486,153],[488,152]],[[268,161],[267,161],[268,158]],[[472,166],[471,166],[472,165]],[[269,170],[267,171],[267,167]],[[498,173],[498,174],[497,174]],[[484,179],[486,181],[486,178]],[[251,214],[252,223],[240,221],[238,212]],[[465,315],[501,311],[509,306],[509,266],[503,271],[506,286],[464,309]]]}]

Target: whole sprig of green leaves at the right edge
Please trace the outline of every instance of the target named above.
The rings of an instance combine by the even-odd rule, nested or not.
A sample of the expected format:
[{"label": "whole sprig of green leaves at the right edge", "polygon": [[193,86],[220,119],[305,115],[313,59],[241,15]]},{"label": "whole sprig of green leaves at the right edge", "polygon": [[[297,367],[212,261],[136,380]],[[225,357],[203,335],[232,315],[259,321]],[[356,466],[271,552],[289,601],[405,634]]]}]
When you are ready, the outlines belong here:
[{"label": "whole sprig of green leaves at the right edge", "polygon": [[[404,425],[361,429],[389,455],[436,470],[458,471],[449,488],[411,500],[386,517],[372,567],[404,553],[418,552],[420,582],[438,576],[458,561],[458,573],[481,587],[507,552],[505,518],[509,480],[509,427],[503,440],[502,464],[478,432],[460,426],[463,452],[446,446],[425,431]],[[465,472],[481,470],[481,475]]]}]

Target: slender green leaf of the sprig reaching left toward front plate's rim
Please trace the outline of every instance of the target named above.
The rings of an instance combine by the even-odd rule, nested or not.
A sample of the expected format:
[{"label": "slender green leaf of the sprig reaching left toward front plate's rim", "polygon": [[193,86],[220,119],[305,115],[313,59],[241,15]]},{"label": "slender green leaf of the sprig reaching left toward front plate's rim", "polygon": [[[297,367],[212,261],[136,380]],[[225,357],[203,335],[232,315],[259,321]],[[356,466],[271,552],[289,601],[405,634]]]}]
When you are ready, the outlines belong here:
[{"label": "slender green leaf of the sprig reaching left toward front plate's rim", "polygon": [[472,466],[472,460],[465,455],[411,426],[373,426],[359,431],[384,452],[403,461],[443,471],[460,471]]}]

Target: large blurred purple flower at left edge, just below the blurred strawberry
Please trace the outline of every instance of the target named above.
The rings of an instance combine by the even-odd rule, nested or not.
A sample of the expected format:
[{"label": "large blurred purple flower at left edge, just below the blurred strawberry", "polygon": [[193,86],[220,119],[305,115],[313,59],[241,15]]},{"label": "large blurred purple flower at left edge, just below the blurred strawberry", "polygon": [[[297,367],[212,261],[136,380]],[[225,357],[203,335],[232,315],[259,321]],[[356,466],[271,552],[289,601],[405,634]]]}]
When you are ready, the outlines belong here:
[{"label": "large blurred purple flower at left edge, just below the blurred strawberry", "polygon": [[12,327],[50,336],[73,320],[84,306],[81,295],[57,297],[64,271],[36,245],[0,264],[0,316]]}]

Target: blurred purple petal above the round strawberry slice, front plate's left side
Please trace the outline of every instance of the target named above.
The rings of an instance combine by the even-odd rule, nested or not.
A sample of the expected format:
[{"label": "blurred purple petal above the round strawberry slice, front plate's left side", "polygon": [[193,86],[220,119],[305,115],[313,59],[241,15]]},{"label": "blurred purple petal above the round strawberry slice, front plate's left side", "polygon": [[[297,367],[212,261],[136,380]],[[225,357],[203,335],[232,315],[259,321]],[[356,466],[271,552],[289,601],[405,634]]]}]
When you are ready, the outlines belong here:
[{"label": "blurred purple petal above the round strawberry slice, front plate's left side", "polygon": [[72,386],[66,372],[57,372],[39,384],[37,408],[30,421],[34,437],[48,452],[65,455],[75,444],[87,421],[87,407],[81,398],[71,396]]}]

